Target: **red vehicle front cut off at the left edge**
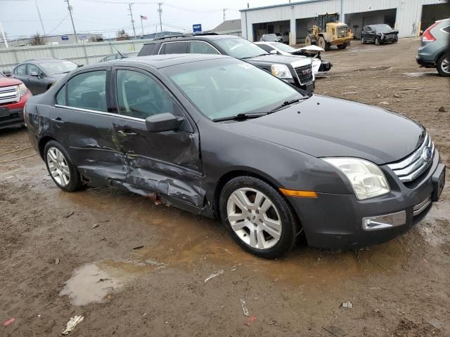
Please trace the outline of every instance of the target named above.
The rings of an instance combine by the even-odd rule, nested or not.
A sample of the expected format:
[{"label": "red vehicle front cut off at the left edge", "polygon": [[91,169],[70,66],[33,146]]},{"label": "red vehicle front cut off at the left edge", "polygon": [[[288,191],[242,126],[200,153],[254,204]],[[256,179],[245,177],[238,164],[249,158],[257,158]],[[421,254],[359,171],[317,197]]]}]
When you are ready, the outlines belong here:
[{"label": "red vehicle front cut off at the left edge", "polygon": [[23,107],[31,96],[22,81],[0,72],[0,128],[25,124]]}]

